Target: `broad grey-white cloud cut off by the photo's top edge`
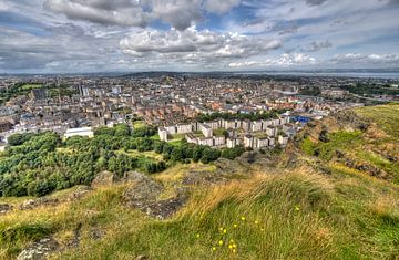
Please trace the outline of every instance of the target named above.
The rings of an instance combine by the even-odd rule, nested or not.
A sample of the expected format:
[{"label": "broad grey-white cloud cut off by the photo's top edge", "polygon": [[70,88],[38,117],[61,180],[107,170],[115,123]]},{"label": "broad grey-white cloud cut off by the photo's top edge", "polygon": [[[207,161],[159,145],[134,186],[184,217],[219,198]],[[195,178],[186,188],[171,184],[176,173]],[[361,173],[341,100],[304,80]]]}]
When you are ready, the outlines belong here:
[{"label": "broad grey-white cloud cut off by the photo's top edge", "polygon": [[72,20],[100,24],[145,27],[161,20],[177,30],[185,30],[204,17],[229,11],[241,0],[45,0],[44,8]]}]

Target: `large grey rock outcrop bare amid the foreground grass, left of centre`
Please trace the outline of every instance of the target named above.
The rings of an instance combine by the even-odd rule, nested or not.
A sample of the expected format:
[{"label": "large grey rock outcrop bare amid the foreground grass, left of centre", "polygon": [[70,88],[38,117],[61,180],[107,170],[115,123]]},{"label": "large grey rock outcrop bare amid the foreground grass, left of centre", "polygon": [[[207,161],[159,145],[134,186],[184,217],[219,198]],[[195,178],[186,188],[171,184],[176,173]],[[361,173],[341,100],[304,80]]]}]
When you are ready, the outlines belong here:
[{"label": "large grey rock outcrop bare amid the foreground grass, left of centre", "polygon": [[158,200],[157,197],[164,187],[143,174],[132,173],[129,179],[134,184],[123,193],[122,202],[127,207],[140,209],[151,217],[168,218],[187,200],[184,191],[180,191],[173,198]]}]

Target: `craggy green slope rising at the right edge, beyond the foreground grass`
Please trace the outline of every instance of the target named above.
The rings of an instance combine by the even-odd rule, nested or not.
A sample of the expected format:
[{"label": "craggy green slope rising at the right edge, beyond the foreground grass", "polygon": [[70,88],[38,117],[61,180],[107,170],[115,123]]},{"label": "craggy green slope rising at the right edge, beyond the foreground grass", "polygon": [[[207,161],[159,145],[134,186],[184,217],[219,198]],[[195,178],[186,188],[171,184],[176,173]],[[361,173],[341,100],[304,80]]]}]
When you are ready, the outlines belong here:
[{"label": "craggy green slope rising at the right edge, beyond the foreground grass", "polygon": [[[309,126],[299,136],[299,147],[308,156],[335,162],[371,176],[399,184],[399,104],[370,106],[337,115]],[[350,125],[352,122],[357,125]],[[321,127],[320,127],[321,125]]]}]

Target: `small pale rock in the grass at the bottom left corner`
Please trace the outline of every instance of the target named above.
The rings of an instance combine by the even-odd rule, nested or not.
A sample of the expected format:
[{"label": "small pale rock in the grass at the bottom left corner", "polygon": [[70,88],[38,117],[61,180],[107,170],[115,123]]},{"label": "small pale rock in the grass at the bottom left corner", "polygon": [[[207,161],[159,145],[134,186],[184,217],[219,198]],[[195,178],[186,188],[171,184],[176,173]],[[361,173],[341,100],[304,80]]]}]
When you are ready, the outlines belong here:
[{"label": "small pale rock in the grass at the bottom left corner", "polygon": [[53,238],[43,238],[23,249],[18,260],[41,260],[47,259],[50,253],[59,250],[60,245]]}]

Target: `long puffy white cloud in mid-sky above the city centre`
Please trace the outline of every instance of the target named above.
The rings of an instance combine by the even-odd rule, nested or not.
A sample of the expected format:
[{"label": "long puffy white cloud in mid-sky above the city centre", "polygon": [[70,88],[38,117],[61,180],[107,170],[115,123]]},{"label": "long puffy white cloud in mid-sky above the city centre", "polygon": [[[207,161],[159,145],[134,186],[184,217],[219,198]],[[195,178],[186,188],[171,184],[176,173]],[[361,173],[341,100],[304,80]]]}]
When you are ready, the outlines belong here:
[{"label": "long puffy white cloud in mid-sky above the city centre", "polygon": [[282,44],[279,40],[198,31],[195,27],[184,31],[143,31],[133,33],[120,42],[124,53],[139,56],[149,53],[191,52],[203,58],[247,58],[278,49]]}]

